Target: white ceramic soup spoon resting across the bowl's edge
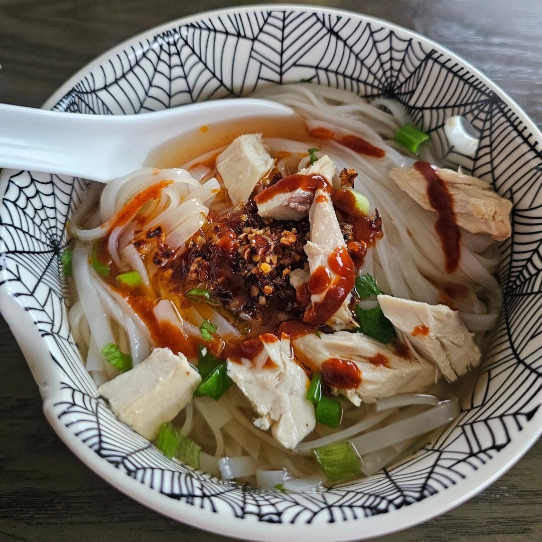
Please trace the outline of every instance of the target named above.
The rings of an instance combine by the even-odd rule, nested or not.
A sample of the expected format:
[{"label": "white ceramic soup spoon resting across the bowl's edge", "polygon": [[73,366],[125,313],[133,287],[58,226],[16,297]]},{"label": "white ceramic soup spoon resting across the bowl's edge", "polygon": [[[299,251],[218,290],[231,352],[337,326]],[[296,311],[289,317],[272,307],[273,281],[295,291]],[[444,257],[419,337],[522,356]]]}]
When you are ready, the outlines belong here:
[{"label": "white ceramic soup spoon resting across the bowl's edge", "polygon": [[60,113],[0,104],[0,167],[107,183],[140,168],[173,137],[249,118],[293,119],[275,102],[232,98],[137,115]]}]

